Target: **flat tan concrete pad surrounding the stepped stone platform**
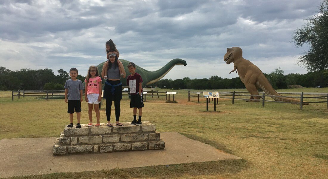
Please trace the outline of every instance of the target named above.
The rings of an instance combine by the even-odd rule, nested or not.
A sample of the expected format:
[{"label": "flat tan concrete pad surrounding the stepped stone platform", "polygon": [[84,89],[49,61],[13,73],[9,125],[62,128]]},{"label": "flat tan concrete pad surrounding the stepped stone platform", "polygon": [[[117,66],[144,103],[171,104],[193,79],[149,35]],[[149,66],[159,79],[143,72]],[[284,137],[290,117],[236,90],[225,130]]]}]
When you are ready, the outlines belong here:
[{"label": "flat tan concrete pad surrounding the stepped stone platform", "polygon": [[0,177],[241,159],[177,132],[163,132],[164,150],[53,156],[56,138],[2,139]]}]

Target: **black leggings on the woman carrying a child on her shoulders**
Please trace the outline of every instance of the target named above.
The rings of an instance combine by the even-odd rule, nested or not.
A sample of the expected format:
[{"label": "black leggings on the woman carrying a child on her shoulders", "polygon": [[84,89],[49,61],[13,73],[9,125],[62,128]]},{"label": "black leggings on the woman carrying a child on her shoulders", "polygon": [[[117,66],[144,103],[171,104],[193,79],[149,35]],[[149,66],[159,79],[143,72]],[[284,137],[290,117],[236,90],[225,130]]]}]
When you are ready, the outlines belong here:
[{"label": "black leggings on the woman carrying a child on her shoulders", "polygon": [[[107,80],[109,83],[112,85],[119,84],[121,80]],[[115,119],[116,121],[119,121],[120,119],[120,114],[121,114],[121,99],[122,99],[122,85],[115,86],[115,94],[113,95],[111,93],[111,86],[105,84],[104,87],[104,98],[106,99],[106,117],[107,121],[111,120],[111,108],[112,108],[112,103],[114,101],[114,107],[115,107]]]}]

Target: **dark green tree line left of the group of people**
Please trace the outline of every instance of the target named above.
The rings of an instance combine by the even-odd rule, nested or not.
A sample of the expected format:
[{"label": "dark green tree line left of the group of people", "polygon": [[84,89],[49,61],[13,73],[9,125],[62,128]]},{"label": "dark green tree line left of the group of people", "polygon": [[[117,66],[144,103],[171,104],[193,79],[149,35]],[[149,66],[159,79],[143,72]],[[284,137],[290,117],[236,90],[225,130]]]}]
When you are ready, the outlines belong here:
[{"label": "dark green tree line left of the group of people", "polygon": [[[69,73],[63,69],[57,70],[55,75],[52,69],[32,70],[23,68],[11,71],[0,67],[0,90],[64,90]],[[85,77],[78,75],[77,79],[84,81]]]}]

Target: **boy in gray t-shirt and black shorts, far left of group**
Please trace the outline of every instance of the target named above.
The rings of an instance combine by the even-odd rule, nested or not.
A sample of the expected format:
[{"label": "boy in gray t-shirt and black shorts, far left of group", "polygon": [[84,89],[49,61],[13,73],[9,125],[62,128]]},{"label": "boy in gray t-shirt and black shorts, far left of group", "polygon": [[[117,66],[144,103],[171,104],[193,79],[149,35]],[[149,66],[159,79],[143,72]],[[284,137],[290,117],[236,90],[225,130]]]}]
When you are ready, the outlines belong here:
[{"label": "boy in gray t-shirt and black shorts, far left of group", "polygon": [[81,128],[80,119],[81,119],[81,102],[82,99],[82,90],[84,86],[82,81],[76,79],[78,73],[76,68],[70,69],[71,79],[66,80],[65,83],[65,102],[68,102],[67,112],[70,114],[70,124],[67,127],[73,127],[73,113],[74,109],[77,117],[76,128]]}]

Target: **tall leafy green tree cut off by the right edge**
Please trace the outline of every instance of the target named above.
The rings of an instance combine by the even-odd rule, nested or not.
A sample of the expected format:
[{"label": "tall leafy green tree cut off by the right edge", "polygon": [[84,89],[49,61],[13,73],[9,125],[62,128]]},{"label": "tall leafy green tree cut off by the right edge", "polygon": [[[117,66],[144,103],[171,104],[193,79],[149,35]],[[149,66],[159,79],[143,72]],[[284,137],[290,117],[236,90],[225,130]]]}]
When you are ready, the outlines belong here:
[{"label": "tall leafy green tree cut off by the right edge", "polygon": [[328,69],[328,0],[323,0],[318,9],[318,15],[304,19],[307,23],[296,30],[292,39],[297,48],[309,45],[298,61],[308,71]]}]

